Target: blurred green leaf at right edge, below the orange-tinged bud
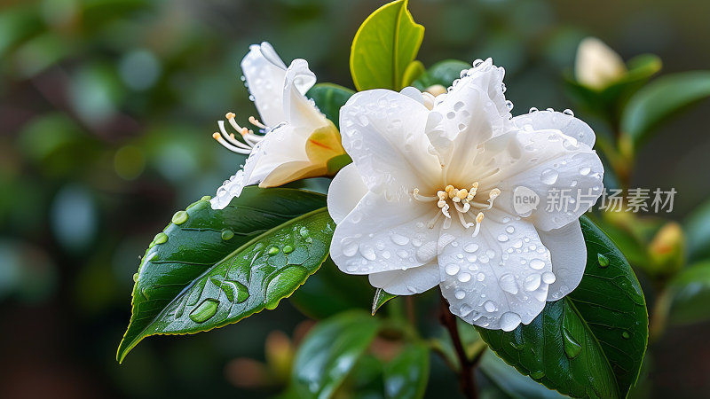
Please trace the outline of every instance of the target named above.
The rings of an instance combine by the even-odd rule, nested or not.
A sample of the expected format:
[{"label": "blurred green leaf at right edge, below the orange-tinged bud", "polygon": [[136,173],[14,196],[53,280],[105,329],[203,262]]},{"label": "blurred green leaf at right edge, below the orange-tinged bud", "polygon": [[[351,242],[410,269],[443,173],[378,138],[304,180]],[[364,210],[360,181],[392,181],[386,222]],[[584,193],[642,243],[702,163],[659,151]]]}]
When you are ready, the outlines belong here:
[{"label": "blurred green leaf at right edge, below the orange-tinged bud", "polygon": [[682,270],[668,285],[673,302],[668,319],[675,324],[710,320],[710,261]]}]

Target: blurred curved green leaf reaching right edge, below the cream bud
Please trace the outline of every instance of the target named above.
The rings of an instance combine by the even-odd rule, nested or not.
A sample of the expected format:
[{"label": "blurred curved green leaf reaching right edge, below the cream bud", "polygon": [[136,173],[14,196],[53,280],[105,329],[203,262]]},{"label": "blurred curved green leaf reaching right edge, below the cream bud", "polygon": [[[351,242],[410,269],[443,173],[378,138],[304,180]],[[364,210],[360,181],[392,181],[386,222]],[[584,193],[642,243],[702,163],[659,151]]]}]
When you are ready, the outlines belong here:
[{"label": "blurred curved green leaf reaching right edge, below the cream bud", "polygon": [[621,116],[621,131],[635,145],[641,145],[662,121],[707,97],[710,97],[710,71],[662,76],[629,100]]}]

